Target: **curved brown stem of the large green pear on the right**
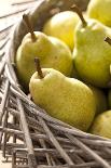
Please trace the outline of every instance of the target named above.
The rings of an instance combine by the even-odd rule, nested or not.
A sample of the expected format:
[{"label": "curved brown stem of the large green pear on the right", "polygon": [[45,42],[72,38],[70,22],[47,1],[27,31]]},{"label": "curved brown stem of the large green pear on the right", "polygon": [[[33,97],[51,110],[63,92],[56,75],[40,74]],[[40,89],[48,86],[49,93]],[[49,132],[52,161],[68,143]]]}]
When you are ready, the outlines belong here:
[{"label": "curved brown stem of the large green pear on the right", "polygon": [[83,17],[82,11],[75,4],[73,4],[71,7],[71,9],[79,15],[80,20],[83,23],[83,27],[85,27],[87,25],[87,23],[86,23],[85,18]]}]

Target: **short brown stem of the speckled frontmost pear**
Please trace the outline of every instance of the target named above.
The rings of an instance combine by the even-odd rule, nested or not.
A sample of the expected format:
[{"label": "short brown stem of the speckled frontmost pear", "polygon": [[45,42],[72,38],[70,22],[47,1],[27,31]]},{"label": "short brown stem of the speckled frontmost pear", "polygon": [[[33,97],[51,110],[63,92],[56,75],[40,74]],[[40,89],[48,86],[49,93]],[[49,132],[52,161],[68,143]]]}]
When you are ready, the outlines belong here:
[{"label": "short brown stem of the speckled frontmost pear", "polygon": [[36,64],[36,68],[37,68],[37,72],[38,72],[38,75],[39,75],[40,79],[43,79],[44,76],[43,76],[43,73],[42,73],[42,69],[41,69],[40,59],[39,57],[34,57],[34,64]]}]

